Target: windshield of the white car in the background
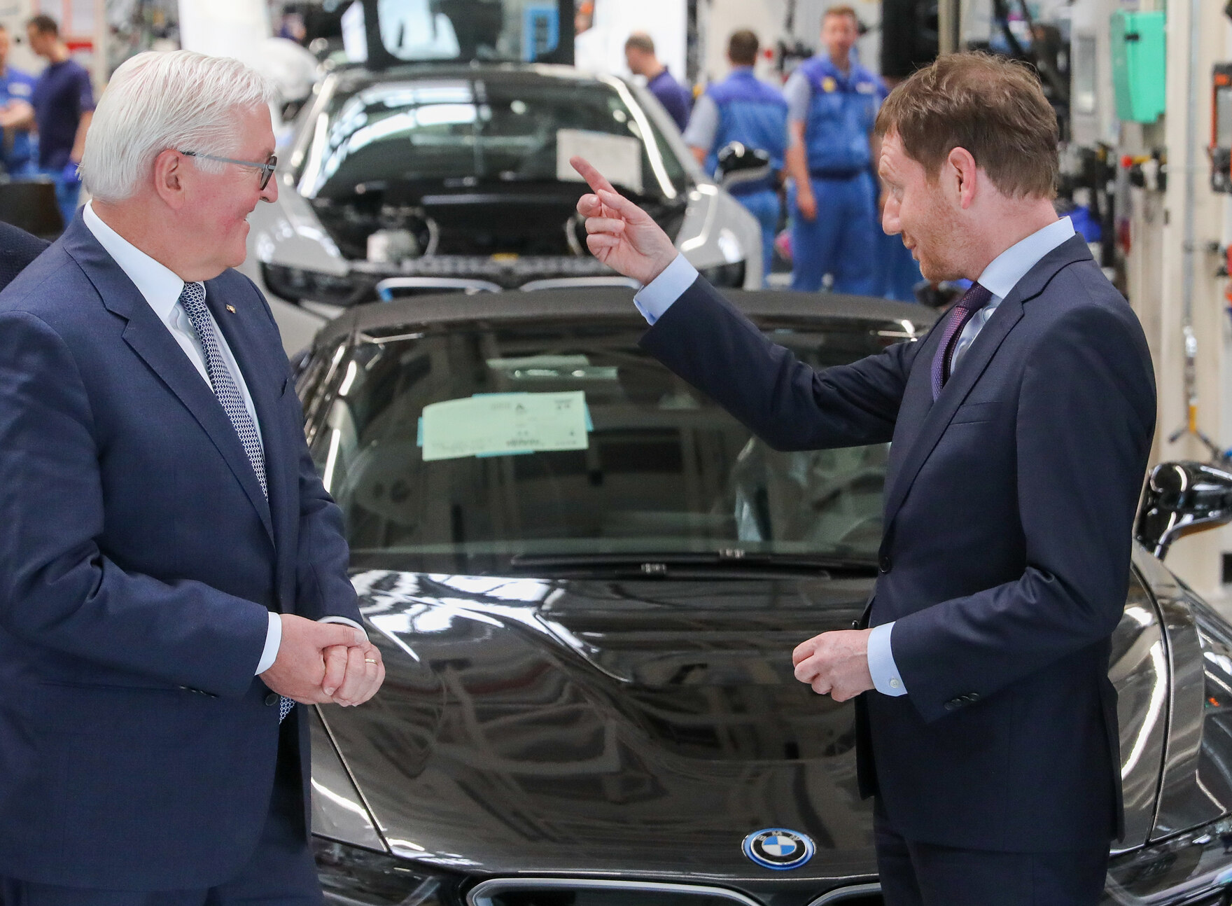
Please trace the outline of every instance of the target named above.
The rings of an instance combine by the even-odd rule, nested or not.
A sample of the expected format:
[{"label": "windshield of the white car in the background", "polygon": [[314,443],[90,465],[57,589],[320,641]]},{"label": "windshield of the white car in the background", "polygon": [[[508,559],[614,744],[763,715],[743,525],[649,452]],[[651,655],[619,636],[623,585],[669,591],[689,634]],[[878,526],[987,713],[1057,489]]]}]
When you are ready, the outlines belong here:
[{"label": "windshield of the white car in the background", "polygon": [[[570,154],[605,161],[636,196],[675,198],[685,171],[618,79],[416,79],[335,95],[312,129],[301,195],[460,190],[479,184],[575,182]],[[442,185],[444,184],[444,185]]]}]

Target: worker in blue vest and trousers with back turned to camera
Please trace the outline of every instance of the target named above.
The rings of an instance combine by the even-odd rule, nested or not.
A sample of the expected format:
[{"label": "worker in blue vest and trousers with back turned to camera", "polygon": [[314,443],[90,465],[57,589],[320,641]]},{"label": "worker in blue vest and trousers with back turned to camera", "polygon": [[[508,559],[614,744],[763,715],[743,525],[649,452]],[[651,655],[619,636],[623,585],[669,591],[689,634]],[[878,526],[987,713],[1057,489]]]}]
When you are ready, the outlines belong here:
[{"label": "worker in blue vest and trousers with back turned to camera", "polygon": [[787,144],[787,101],[782,91],[753,75],[756,58],[758,36],[747,28],[733,33],[727,42],[727,59],[732,64],[732,73],[723,81],[707,88],[697,100],[689,128],[685,129],[685,144],[711,176],[718,166],[719,149],[732,142],[770,155],[772,175],[729,189],[736,200],[761,224],[764,281],[770,275],[775,229],[779,227],[777,174],[782,170]]}]

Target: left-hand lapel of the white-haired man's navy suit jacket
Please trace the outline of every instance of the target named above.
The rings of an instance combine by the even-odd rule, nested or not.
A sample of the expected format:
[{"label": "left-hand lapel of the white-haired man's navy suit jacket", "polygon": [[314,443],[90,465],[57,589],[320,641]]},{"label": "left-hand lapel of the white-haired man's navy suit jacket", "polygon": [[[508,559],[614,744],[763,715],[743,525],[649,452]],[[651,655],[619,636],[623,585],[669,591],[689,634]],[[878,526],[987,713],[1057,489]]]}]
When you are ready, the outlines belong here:
[{"label": "left-hand lapel of the white-haired man's navy suit jacket", "polygon": [[272,542],[274,526],[265,494],[261,493],[261,486],[253,472],[253,465],[248,461],[248,454],[244,452],[244,445],[213,390],[201,378],[201,373],[188,361],[166,324],[159,320],[145,297],[99,244],[80,216],[65,231],[64,248],[81,265],[99,291],[102,304],[127,322],[123,332],[124,343],[192,414],[227,461],[260,515]]}]

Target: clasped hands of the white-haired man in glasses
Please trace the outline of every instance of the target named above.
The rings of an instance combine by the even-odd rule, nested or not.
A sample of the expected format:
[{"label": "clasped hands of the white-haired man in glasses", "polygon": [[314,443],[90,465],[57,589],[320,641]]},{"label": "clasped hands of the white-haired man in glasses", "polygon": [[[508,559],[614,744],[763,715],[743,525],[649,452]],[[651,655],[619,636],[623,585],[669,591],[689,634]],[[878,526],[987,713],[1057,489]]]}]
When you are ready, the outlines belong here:
[{"label": "clasped hands of the white-haired man in glasses", "polygon": [[261,679],[304,705],[362,705],[384,682],[379,650],[362,630],[282,614],[278,656]]}]

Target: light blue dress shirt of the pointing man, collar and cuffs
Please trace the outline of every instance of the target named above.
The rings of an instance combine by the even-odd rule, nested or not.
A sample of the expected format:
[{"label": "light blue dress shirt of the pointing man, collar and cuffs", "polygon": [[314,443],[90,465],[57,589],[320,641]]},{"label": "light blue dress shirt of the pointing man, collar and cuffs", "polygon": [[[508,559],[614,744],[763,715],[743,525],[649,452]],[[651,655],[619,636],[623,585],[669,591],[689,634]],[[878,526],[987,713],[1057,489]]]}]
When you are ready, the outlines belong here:
[{"label": "light blue dress shirt of the pointing man, collar and cuffs", "polygon": [[[1010,245],[984,267],[978,282],[992,293],[992,298],[988,304],[972,316],[967,325],[962,328],[962,333],[958,334],[958,343],[954,348],[954,359],[950,361],[951,373],[958,367],[962,355],[976,341],[976,337],[979,335],[984,324],[993,317],[997,307],[1018,281],[1026,276],[1026,272],[1039,264],[1041,258],[1073,234],[1073,223],[1069,222],[1068,217],[1062,217]],[[642,312],[647,322],[654,324],[671,307],[671,303],[692,286],[696,279],[697,270],[685,260],[684,255],[676,255],[659,276],[638,291],[633,297],[633,304]],[[875,626],[869,634],[869,673],[872,674],[872,683],[877,692],[885,695],[906,695],[907,687],[903,685],[903,678],[898,673],[891,647],[893,630],[893,622],[885,622]]]}]

